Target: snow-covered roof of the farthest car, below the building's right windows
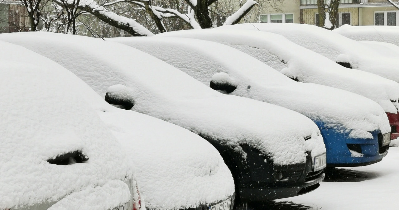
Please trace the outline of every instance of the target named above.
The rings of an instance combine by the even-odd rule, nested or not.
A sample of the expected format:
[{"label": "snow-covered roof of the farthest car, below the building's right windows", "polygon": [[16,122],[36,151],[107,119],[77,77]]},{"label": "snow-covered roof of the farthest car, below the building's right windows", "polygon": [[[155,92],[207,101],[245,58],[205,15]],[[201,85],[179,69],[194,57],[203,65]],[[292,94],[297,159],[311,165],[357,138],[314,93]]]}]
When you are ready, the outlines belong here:
[{"label": "snow-covered roof of the farthest car, below the building's right windows", "polygon": [[399,28],[396,26],[343,25],[332,31],[354,40],[381,41],[399,46]]}]

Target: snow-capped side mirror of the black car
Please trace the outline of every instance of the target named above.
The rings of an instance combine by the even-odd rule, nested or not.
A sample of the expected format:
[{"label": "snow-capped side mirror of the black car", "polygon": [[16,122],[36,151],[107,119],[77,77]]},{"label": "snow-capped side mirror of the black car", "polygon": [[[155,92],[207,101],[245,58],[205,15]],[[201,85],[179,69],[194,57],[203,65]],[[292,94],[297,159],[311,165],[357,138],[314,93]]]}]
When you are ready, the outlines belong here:
[{"label": "snow-capped side mirror of the black car", "polygon": [[134,105],[132,93],[122,84],[110,86],[105,94],[105,101],[126,110]]}]

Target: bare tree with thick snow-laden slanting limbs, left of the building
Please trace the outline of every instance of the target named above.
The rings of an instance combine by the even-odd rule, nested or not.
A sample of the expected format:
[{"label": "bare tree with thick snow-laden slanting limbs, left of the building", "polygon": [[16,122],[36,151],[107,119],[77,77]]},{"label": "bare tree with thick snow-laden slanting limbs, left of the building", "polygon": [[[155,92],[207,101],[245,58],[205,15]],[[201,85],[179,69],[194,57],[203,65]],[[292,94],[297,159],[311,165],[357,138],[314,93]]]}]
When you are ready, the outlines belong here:
[{"label": "bare tree with thick snow-laden slanting limbs, left of the building", "polygon": [[[54,2],[60,2],[61,0],[53,0]],[[65,0],[67,7],[73,6],[73,0]],[[214,20],[210,15],[210,5],[217,2],[217,0],[175,0],[174,8],[165,8],[162,5],[163,0],[154,2],[153,0],[116,0],[107,4],[98,4],[92,0],[86,0],[74,5],[79,10],[89,12],[110,24],[111,26],[123,29],[134,36],[146,36],[153,35],[146,27],[138,24],[136,20],[127,18],[126,16],[119,16],[115,13],[115,5],[124,4],[136,7],[136,10],[144,11],[146,15],[150,17],[152,23],[156,26],[157,32],[167,31],[165,27],[165,20],[176,18],[180,22],[183,22],[182,26],[188,26],[190,28],[211,28],[215,27]],[[170,2],[169,2],[170,3]],[[245,4],[236,13],[233,13],[232,17],[229,18],[227,24],[235,24],[241,20],[256,4],[253,0],[247,0]],[[59,4],[61,5],[61,4]],[[106,9],[110,8],[110,9]],[[126,14],[124,14],[126,15]]]}]

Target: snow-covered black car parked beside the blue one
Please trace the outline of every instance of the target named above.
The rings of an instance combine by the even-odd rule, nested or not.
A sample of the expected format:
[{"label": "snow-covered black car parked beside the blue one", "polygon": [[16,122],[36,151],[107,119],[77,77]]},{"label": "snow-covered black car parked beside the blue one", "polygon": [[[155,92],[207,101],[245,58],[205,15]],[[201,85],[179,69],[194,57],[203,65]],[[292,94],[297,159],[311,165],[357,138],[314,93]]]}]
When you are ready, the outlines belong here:
[{"label": "snow-covered black car parked beside the blue one", "polygon": [[297,112],[221,94],[120,43],[46,32],[0,37],[56,61],[113,104],[207,139],[229,167],[239,202],[296,196],[324,178],[320,131]]}]

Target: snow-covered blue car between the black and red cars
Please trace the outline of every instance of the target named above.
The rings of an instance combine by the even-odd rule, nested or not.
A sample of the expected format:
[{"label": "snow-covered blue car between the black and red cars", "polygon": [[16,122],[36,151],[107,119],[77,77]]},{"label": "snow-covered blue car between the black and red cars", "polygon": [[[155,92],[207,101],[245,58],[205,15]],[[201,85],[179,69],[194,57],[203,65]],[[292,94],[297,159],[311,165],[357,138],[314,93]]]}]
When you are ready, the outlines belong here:
[{"label": "snow-covered blue car between the black and red cars", "polygon": [[[149,53],[215,90],[307,116],[321,130],[327,167],[369,165],[387,155],[389,121],[381,106],[364,96],[296,82],[250,55],[211,41],[156,36],[109,40]],[[381,144],[380,136],[385,140]]]}]

